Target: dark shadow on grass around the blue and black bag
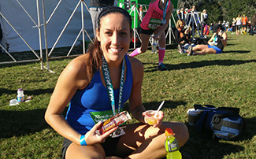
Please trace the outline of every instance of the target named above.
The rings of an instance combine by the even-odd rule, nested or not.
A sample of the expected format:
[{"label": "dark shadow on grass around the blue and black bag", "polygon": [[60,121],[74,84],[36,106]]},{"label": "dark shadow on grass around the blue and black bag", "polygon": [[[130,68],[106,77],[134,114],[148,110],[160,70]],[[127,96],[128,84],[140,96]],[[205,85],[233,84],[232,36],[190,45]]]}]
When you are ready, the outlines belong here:
[{"label": "dark shadow on grass around the blue and black bag", "polygon": [[188,153],[191,158],[224,158],[224,155],[238,153],[245,150],[247,146],[238,146],[232,144],[233,142],[242,142],[253,139],[256,132],[252,129],[256,124],[256,117],[245,119],[246,128],[242,134],[230,142],[226,140],[212,139],[212,135],[206,135],[197,131],[193,126],[188,123],[187,128],[190,138],[180,151]]}]

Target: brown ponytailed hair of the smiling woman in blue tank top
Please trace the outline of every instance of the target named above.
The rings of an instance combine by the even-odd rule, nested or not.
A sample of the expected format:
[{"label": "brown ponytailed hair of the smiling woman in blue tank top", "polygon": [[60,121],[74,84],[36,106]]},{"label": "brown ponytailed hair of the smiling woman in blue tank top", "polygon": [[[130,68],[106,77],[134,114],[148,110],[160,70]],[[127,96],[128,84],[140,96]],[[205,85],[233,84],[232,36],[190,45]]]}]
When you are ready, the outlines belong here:
[{"label": "brown ponytailed hair of the smiling woman in blue tank top", "polygon": [[[98,31],[100,29],[101,19],[105,17],[109,13],[121,13],[124,17],[128,18],[130,24],[130,31],[132,33],[132,18],[129,13],[117,6],[110,6],[103,9],[102,12],[98,16]],[[97,38],[95,38],[94,43],[90,44],[87,54],[89,54],[88,61],[87,61],[87,73],[88,77],[91,80],[92,76],[95,72],[102,66],[102,55],[103,52],[100,48],[100,42]]]}]

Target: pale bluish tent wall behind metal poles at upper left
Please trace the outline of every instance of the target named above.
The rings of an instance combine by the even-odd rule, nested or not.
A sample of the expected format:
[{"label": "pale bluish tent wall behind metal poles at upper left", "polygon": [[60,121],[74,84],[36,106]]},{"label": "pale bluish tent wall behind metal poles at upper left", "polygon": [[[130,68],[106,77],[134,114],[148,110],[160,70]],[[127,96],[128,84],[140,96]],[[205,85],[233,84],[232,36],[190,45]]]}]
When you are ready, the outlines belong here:
[{"label": "pale bluish tent wall behind metal poles at upper left", "polygon": [[[45,1],[45,14],[47,21],[47,43],[48,47],[54,46],[62,29],[69,20],[73,10],[76,8],[80,0],[51,0]],[[90,0],[85,0],[89,5]],[[58,6],[56,9],[55,7]],[[55,10],[54,10],[55,9]],[[41,34],[43,35],[43,7],[42,1],[39,0],[39,11],[37,10],[37,3],[35,0],[0,0],[0,12],[3,17],[13,25],[13,28],[19,32],[24,40],[33,48],[39,50],[39,29],[36,25],[41,24]],[[26,13],[27,12],[27,13]],[[87,9],[83,10],[86,19],[84,28],[93,36],[91,17]],[[51,15],[54,13],[53,15]],[[51,16],[51,17],[50,17]],[[2,17],[1,25],[3,31],[2,45],[6,47],[9,43],[9,52],[22,52],[30,50],[20,39],[17,32],[8,24]],[[49,19],[50,18],[50,19]],[[38,21],[40,20],[40,21]],[[70,23],[63,32],[61,39],[56,47],[71,46],[77,34],[80,32],[81,26],[81,9],[77,8]],[[45,43],[43,43],[45,49]]]}]

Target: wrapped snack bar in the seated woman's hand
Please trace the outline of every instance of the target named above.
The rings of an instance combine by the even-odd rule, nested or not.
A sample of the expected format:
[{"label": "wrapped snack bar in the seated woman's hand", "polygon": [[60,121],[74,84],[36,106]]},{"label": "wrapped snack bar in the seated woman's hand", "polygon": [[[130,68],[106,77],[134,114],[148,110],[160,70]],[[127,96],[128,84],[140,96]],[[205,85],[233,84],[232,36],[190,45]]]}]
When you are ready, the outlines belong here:
[{"label": "wrapped snack bar in the seated woman's hand", "polygon": [[101,124],[100,128],[98,128],[96,133],[98,135],[102,135],[106,131],[109,131],[112,128],[115,128],[118,125],[123,124],[124,122],[126,122],[127,120],[130,120],[130,119],[132,119],[132,117],[130,116],[130,114],[127,111],[121,112],[115,116],[112,116],[108,120],[104,121]]}]

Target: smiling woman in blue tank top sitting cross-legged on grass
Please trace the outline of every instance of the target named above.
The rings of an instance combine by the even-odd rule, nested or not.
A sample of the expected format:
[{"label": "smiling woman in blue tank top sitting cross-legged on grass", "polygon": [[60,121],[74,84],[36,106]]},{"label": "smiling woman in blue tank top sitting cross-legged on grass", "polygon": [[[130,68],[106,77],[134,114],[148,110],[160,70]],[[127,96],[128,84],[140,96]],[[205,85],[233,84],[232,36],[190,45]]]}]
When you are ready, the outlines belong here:
[{"label": "smiling woman in blue tank top sitting cross-legged on grass", "polygon": [[[172,128],[184,146],[189,137],[185,124],[163,122],[162,111],[154,125],[145,118],[143,64],[127,55],[132,41],[129,13],[106,7],[98,16],[96,33],[87,54],[73,59],[61,72],[46,109],[46,122],[64,137],[62,158],[162,158],[165,128]],[[137,122],[98,135],[102,120],[122,112],[128,100]]]}]

